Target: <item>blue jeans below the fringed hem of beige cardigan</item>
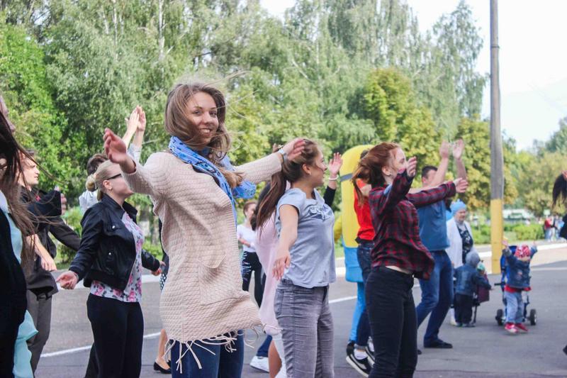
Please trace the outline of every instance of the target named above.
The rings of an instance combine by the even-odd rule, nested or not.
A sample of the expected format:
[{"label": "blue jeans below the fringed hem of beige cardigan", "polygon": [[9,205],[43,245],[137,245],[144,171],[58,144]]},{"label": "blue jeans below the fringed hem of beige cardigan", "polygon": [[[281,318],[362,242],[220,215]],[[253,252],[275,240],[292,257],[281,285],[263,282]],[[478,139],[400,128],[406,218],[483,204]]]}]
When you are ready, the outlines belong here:
[{"label": "blue jeans below the fringed hem of beige cardigan", "polygon": [[[172,348],[172,377],[240,378],[244,365],[244,335],[240,334],[242,331],[238,333],[235,344],[231,345],[235,349],[232,352],[228,351],[225,345],[210,345],[201,343],[201,341],[193,343],[191,350],[201,362],[201,369],[199,369],[191,350],[188,350],[185,344],[176,342]],[[210,352],[201,347],[207,348]],[[181,368],[178,369],[177,360],[180,352],[183,357],[181,357]]]}]

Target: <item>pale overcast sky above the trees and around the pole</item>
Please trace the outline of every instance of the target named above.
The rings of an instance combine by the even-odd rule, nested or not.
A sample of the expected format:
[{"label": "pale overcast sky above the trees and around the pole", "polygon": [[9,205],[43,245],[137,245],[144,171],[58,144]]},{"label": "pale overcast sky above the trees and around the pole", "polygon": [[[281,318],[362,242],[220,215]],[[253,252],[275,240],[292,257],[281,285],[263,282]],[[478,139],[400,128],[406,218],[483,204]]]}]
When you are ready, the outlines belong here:
[{"label": "pale overcast sky above the trees and around the pole", "polygon": [[[408,0],[422,31],[459,0]],[[276,16],[293,6],[293,0],[261,0]],[[484,40],[478,72],[490,72],[490,1],[468,0]],[[565,0],[499,1],[501,122],[519,148],[534,139],[546,140],[567,116],[567,49]],[[489,88],[485,87],[483,117],[490,114]]]}]

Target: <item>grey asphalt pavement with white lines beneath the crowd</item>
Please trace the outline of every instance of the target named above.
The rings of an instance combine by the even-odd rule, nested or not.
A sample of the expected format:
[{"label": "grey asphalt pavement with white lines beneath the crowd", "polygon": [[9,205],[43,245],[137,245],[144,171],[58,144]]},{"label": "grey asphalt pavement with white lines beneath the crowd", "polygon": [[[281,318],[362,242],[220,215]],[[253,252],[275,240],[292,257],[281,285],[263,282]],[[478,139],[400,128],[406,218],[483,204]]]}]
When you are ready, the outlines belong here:
[{"label": "grey asphalt pavement with white lines beneath the crowd", "polygon": [[[561,254],[564,253],[567,260],[567,248],[562,250]],[[541,255],[545,253],[539,252]],[[500,277],[495,275],[489,279],[492,283],[500,281]],[[150,279],[142,287],[146,337],[141,377],[155,378],[160,376],[152,369],[157,352],[157,334],[161,328],[159,284]],[[566,287],[566,261],[532,267],[533,291],[529,308],[537,309],[538,323],[529,327],[529,333],[524,335],[508,335],[497,326],[495,314],[503,305],[502,292],[496,287],[490,293],[490,301],[478,308],[476,328],[456,328],[449,324],[447,317],[440,337],[452,343],[454,349],[422,349],[415,377],[567,377],[567,356],[562,352],[567,343]],[[413,291],[417,304],[421,295],[418,284]],[[86,318],[88,294],[87,289],[75,289],[54,296],[50,340],[43,351],[36,377],[84,377],[92,343],[91,328]],[[356,286],[344,281],[343,277],[339,277],[330,288],[337,378],[360,377],[345,361],[355,295]],[[419,330],[420,348],[424,330],[425,325]],[[263,340],[254,340],[254,333],[248,333],[247,338],[256,347]],[[253,355],[254,349],[246,348],[243,377],[269,377],[247,365]]]}]

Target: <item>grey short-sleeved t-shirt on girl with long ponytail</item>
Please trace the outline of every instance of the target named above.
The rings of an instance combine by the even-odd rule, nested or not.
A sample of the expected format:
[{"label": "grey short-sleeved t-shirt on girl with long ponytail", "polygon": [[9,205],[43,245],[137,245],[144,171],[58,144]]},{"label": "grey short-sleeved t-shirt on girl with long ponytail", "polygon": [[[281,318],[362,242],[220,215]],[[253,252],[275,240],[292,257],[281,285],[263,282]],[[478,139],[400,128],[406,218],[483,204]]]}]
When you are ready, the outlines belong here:
[{"label": "grey short-sleeved t-shirt on girl with long ponytail", "polygon": [[307,288],[325,287],[337,278],[333,235],[335,215],[318,191],[315,190],[314,193],[315,199],[312,199],[306,198],[301,189],[289,189],[276,208],[278,237],[281,232],[281,206],[291,205],[298,211],[297,240],[289,250],[291,263],[283,274],[283,279]]}]

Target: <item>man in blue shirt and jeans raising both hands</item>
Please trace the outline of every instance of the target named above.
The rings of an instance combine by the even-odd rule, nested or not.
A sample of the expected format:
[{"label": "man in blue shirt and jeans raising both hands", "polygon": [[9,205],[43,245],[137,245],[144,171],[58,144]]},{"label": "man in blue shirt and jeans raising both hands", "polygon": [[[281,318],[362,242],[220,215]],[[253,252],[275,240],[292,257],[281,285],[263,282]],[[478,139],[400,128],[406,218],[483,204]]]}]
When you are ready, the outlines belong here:
[{"label": "man in blue shirt and jeans raising both hands", "polygon": [[[426,166],[422,169],[422,189],[437,187],[445,181],[447,167],[449,167],[450,145],[443,142],[439,149],[441,161],[439,167]],[[466,169],[461,157],[464,142],[457,140],[453,145],[453,157],[456,163],[457,176],[466,179]],[[431,278],[427,281],[420,279],[422,291],[421,303],[415,308],[417,311],[417,326],[431,313],[423,346],[425,348],[453,348],[439,338],[439,328],[447,316],[449,307],[453,302],[453,267],[445,250],[449,248],[447,239],[447,216],[444,201],[417,209],[420,217],[420,238],[430,250],[435,267]]]}]

